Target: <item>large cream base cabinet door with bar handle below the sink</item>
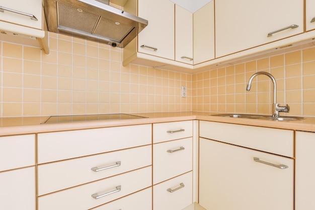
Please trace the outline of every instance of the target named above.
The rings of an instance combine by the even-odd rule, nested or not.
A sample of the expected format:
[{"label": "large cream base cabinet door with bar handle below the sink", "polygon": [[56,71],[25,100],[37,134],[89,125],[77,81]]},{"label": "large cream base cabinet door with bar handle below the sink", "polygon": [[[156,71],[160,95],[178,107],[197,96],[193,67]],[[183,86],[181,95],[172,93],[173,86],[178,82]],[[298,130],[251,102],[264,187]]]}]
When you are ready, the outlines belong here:
[{"label": "large cream base cabinet door with bar handle below the sink", "polygon": [[293,159],[205,138],[199,146],[200,205],[209,210],[293,210]]}]

